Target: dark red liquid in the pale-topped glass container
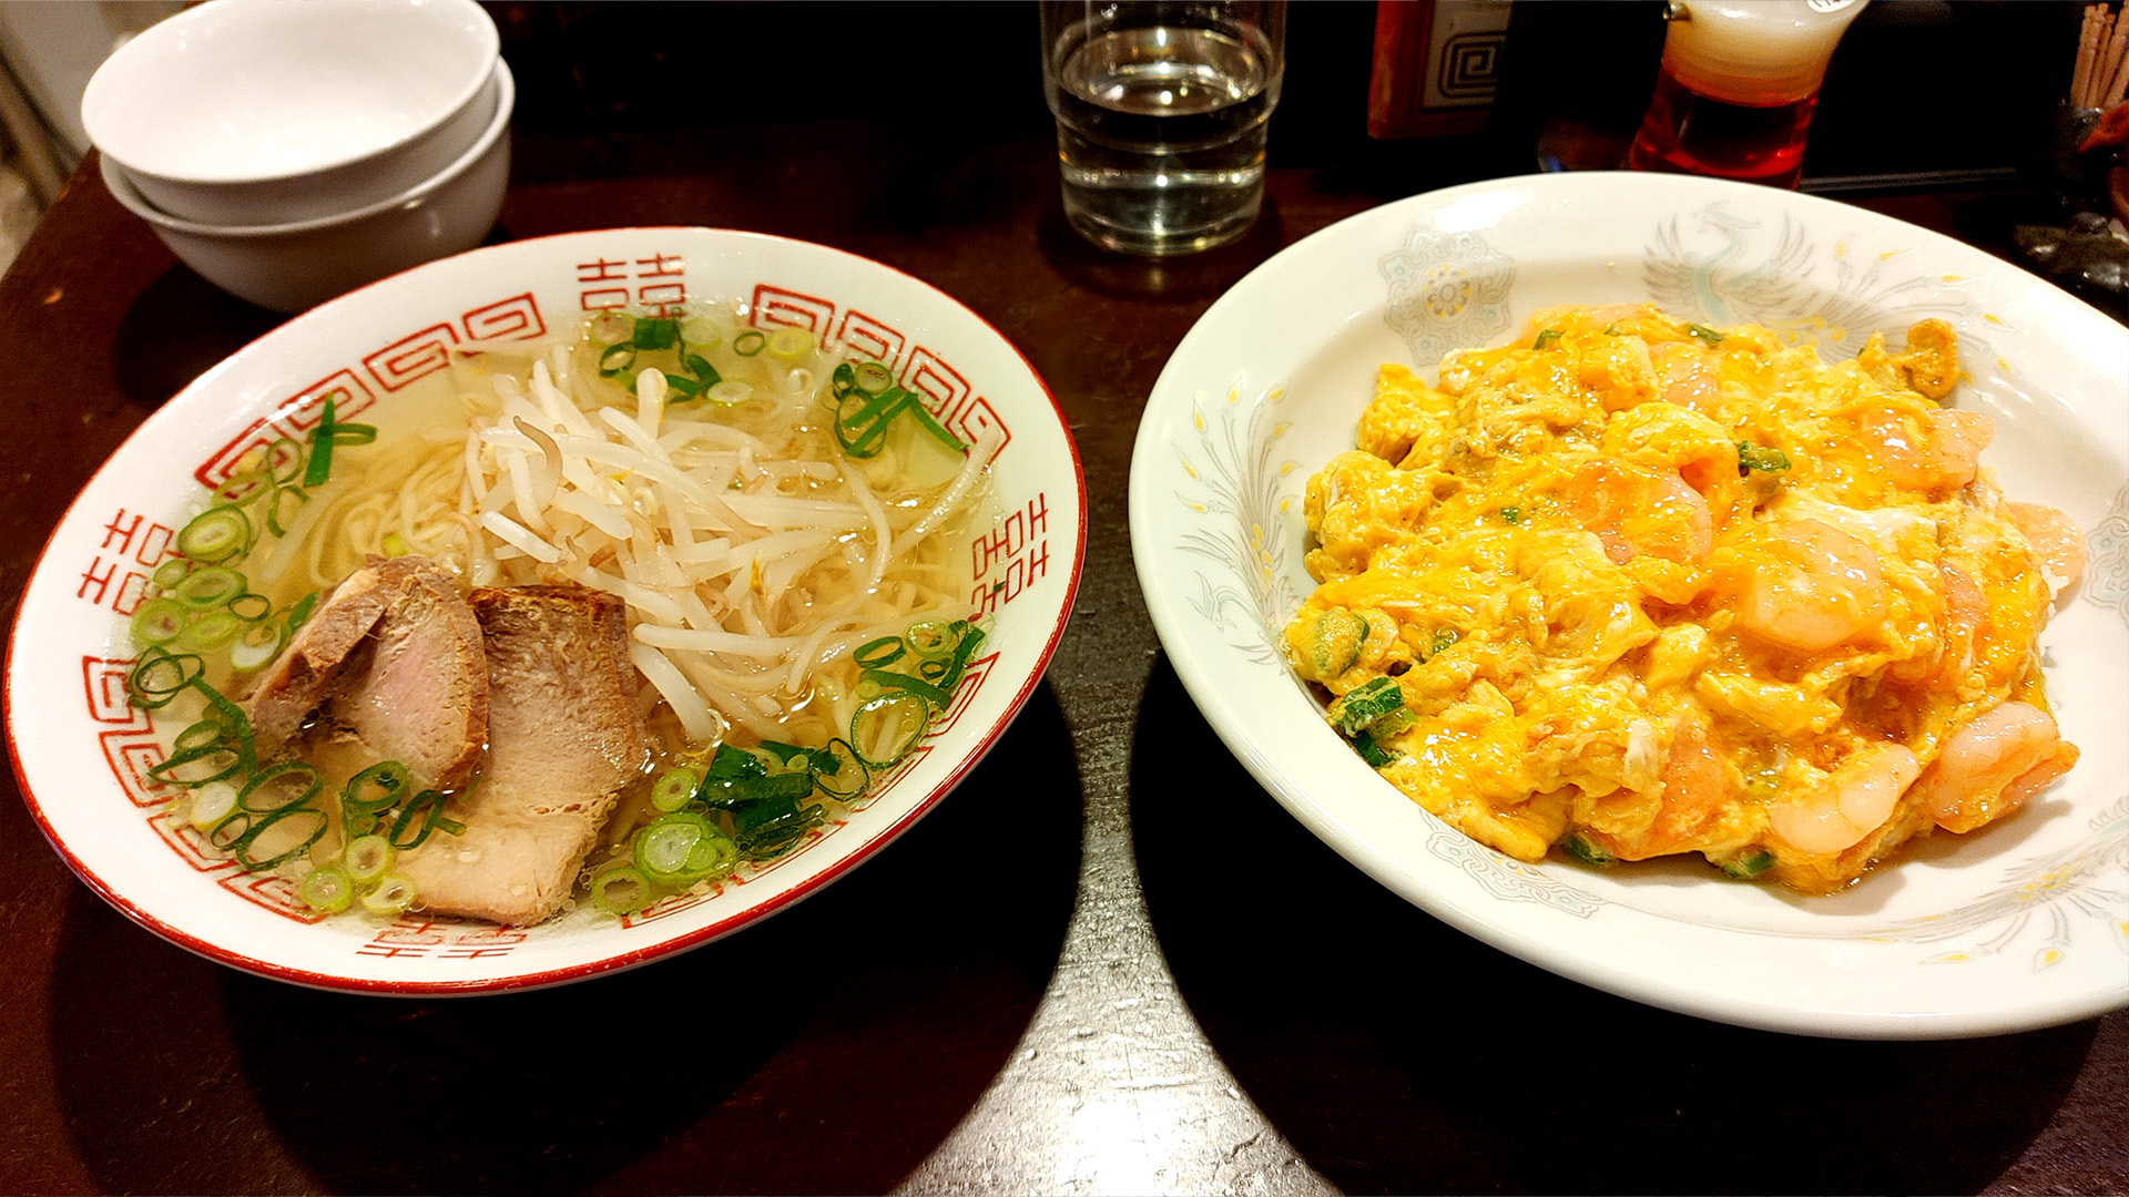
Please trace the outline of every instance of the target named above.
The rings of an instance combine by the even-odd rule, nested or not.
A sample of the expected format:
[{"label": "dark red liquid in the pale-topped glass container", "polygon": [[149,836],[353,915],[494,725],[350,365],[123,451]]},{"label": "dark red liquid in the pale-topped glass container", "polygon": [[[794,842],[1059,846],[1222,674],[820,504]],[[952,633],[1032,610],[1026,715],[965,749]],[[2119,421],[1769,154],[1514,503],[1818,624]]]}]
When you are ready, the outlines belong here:
[{"label": "dark red liquid in the pale-topped glass container", "polygon": [[1795,187],[1814,104],[1818,92],[1767,104],[1716,100],[1680,83],[1665,62],[1627,166]]}]

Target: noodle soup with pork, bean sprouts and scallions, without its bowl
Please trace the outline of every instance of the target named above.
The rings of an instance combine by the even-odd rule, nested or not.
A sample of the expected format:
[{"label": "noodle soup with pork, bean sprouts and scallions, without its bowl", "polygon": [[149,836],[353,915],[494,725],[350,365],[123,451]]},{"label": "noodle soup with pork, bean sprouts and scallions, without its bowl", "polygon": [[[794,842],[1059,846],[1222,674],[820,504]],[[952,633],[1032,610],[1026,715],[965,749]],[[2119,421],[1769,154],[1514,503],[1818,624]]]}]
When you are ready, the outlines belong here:
[{"label": "noodle soup with pork, bean sprouts and scallions, without its bowl", "polygon": [[952,703],[990,445],[886,366],[711,307],[439,379],[253,449],[132,618],[207,846],[319,914],[632,914],[815,835]]}]

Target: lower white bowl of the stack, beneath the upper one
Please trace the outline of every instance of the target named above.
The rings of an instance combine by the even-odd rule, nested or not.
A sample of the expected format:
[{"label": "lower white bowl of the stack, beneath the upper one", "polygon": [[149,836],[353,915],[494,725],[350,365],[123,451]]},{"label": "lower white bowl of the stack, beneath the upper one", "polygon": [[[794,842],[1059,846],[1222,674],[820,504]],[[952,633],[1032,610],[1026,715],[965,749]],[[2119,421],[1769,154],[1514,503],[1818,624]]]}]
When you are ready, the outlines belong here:
[{"label": "lower white bowl of the stack, beneath the upper one", "polygon": [[511,181],[517,85],[496,60],[496,111],[481,138],[434,179],[345,215],[228,228],[177,219],[141,196],[111,158],[104,185],[207,281],[275,311],[302,311],[409,266],[473,249],[496,226]]}]

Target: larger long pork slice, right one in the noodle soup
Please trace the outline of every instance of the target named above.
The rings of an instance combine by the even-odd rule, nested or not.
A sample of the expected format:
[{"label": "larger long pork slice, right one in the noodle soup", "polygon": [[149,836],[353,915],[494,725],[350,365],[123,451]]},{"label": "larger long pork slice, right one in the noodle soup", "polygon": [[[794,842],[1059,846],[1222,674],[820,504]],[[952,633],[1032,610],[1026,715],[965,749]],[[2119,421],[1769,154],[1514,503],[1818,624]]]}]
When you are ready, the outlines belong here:
[{"label": "larger long pork slice, right one in the noodle soup", "polygon": [[488,760],[449,807],[466,831],[432,835],[398,871],[434,914],[528,927],[568,899],[649,737],[620,598],[475,590],[473,611],[488,637]]}]

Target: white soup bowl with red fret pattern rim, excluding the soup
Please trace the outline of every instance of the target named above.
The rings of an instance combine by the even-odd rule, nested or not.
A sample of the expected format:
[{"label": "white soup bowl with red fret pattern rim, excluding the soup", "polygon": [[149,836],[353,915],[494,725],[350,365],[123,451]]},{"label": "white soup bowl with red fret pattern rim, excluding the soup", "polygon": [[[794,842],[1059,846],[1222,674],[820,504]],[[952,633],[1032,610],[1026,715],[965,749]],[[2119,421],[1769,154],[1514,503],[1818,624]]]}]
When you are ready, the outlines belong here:
[{"label": "white soup bowl with red fret pattern rim, excluding the soup", "polygon": [[[615,920],[579,909],[513,931],[460,920],[313,922],[287,882],[202,854],[145,782],[170,728],[126,705],[126,616],[202,483],[245,447],[339,413],[419,403],[445,349],[566,328],[585,309],[686,296],[749,305],[830,351],[881,360],[941,424],[1003,434],[971,550],[994,620],[956,705],[847,818],[775,863]],[[356,396],[353,400],[345,396]],[[373,407],[375,405],[375,407]],[[1003,430],[1003,432],[1001,432]],[[30,814],[98,895],[209,958],[360,993],[483,993],[581,980],[707,944],[818,890],[930,809],[1035,690],[1079,581],[1086,483],[1035,368],[975,313],[909,275],[803,241],[711,228],[579,232],[419,266],[292,319],[204,373],[96,473],[60,522],[15,620],[6,733]]]}]

